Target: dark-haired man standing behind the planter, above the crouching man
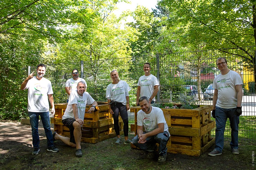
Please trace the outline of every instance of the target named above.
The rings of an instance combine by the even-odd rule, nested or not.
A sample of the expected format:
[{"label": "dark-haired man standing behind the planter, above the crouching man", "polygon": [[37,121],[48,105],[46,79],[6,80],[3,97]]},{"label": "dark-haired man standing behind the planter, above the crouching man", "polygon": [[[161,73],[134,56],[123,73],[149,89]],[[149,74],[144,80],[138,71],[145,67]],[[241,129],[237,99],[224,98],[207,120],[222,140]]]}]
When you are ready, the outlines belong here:
[{"label": "dark-haired man standing behind the planter, above the crouching man", "polygon": [[145,75],[142,75],[139,78],[138,81],[138,88],[137,88],[137,101],[136,104],[138,106],[139,104],[139,98],[140,96],[146,96],[150,103],[153,104],[155,102],[155,96],[157,92],[159,91],[159,82],[158,79],[150,74],[150,64],[145,63],[143,66],[143,70],[145,72]]}]

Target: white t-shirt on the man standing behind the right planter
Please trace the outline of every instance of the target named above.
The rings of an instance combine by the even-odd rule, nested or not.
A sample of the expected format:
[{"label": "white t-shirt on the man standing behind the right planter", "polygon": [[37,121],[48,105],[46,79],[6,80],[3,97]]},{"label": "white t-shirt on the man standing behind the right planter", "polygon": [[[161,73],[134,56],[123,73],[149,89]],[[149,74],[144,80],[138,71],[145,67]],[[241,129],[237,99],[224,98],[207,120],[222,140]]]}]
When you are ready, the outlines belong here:
[{"label": "white t-shirt on the man standing behind the right planter", "polygon": [[[154,92],[154,86],[159,86],[158,79],[150,74],[148,76],[142,75],[139,78],[138,86],[141,87],[140,96],[146,96],[148,99],[152,96]],[[155,97],[152,98],[153,101],[155,101]]]}]

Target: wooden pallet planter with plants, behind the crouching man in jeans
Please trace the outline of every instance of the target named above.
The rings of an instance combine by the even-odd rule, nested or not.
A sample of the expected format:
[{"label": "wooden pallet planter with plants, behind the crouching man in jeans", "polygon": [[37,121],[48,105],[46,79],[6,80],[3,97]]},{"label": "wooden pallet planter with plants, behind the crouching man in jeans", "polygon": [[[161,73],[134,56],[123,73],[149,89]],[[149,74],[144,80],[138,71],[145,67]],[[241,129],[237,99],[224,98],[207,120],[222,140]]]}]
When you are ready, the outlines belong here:
[{"label": "wooden pallet planter with plants, behind the crouching man in jeans", "polygon": [[[199,156],[215,143],[215,137],[211,137],[211,130],[216,126],[215,120],[211,120],[211,105],[197,109],[161,109],[171,134],[167,143],[168,153]],[[131,108],[135,116],[135,135],[139,110],[139,106]],[[131,147],[136,148],[133,144]]]}]

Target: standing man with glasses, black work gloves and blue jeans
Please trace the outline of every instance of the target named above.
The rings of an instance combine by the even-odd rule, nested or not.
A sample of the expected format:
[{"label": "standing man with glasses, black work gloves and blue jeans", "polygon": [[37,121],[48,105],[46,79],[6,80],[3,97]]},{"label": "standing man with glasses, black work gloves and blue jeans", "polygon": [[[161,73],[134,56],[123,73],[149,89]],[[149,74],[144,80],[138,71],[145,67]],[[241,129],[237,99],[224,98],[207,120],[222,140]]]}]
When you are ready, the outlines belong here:
[{"label": "standing man with glasses, black work gloves and blue jeans", "polygon": [[228,118],[231,127],[230,147],[233,154],[239,154],[238,124],[239,116],[242,114],[243,82],[237,72],[228,69],[227,60],[225,58],[218,58],[216,64],[221,72],[221,74],[215,77],[212,85],[215,89],[212,116],[216,120],[216,146],[208,155],[221,155],[224,145],[224,130]]}]

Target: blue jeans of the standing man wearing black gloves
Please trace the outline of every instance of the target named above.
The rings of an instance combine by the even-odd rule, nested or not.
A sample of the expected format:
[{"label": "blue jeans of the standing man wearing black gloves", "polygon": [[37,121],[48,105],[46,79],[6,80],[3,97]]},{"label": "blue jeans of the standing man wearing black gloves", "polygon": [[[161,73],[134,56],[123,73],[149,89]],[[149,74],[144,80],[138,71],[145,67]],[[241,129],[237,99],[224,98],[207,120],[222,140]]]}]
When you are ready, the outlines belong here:
[{"label": "blue jeans of the standing man wearing black gloves", "polygon": [[231,149],[238,149],[238,124],[239,116],[235,115],[235,109],[223,109],[221,107],[216,107],[216,130],[215,130],[215,149],[222,152],[224,146],[224,131],[226,126],[226,121],[229,118],[230,128],[231,128]]}]

